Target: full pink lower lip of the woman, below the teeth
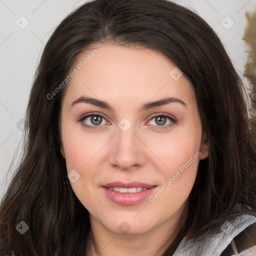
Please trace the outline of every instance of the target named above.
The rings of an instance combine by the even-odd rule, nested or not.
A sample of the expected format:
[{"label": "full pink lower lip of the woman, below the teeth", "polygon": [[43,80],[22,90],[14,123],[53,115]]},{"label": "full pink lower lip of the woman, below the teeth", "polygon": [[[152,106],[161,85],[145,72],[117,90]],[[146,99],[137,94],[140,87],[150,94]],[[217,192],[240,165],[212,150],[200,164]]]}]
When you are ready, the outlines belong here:
[{"label": "full pink lower lip of the woman, below the teeth", "polygon": [[101,187],[105,193],[105,195],[113,202],[121,204],[121,205],[132,205],[137,204],[143,201],[145,198],[149,197],[156,186],[151,188],[147,188],[146,190],[142,190],[136,193],[120,193],[114,190],[110,190],[104,186]]}]

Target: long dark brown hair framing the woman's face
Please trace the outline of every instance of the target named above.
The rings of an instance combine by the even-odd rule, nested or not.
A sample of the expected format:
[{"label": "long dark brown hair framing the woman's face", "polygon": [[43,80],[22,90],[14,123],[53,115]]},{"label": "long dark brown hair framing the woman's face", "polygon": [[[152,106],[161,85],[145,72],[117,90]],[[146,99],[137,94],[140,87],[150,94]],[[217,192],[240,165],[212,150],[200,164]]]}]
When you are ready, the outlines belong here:
[{"label": "long dark brown hair framing the woman's face", "polygon": [[[241,213],[256,215],[256,138],[242,81],[213,29],[167,0],[93,0],[60,22],[42,52],[25,116],[23,156],[0,204],[1,256],[86,253],[89,214],[70,186],[59,151],[64,90],[47,95],[83,50],[106,41],[157,50],[175,63],[193,86],[209,139],[188,217],[163,255],[171,255],[186,234],[214,232]],[[29,226],[22,235],[15,228],[20,221]]]}]

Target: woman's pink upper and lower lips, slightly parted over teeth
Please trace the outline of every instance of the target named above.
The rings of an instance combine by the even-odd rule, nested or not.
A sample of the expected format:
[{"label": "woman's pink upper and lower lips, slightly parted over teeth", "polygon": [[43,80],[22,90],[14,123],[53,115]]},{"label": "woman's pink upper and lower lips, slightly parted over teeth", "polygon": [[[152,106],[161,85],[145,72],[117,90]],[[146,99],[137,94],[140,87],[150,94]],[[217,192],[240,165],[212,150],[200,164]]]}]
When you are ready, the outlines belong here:
[{"label": "woman's pink upper and lower lips, slightly parted over teeth", "polygon": [[[147,187],[146,190],[142,190],[139,192],[135,193],[121,193],[121,192],[116,192],[114,190],[110,190],[108,187],[126,187],[126,188],[132,188],[132,187]],[[101,189],[103,189],[103,192],[105,195],[113,202],[121,205],[133,205],[133,204],[138,204],[142,202],[144,199],[148,198],[150,194],[153,193],[157,185],[150,185],[146,184],[143,182],[121,182],[121,181],[116,181],[116,182],[110,182],[107,183],[103,186],[101,186]]]}]

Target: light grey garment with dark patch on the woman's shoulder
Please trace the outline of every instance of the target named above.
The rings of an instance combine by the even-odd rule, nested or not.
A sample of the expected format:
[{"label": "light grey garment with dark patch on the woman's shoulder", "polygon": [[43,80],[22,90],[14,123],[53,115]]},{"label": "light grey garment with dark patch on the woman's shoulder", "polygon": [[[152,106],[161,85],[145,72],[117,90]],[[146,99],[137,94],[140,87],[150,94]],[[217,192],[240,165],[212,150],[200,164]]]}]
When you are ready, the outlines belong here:
[{"label": "light grey garment with dark patch on the woman's shoulder", "polygon": [[[185,236],[178,245],[173,256],[231,256],[232,254],[237,255],[240,252],[250,253],[249,250],[256,245],[255,239],[256,217],[249,214],[241,214],[236,216],[231,222],[225,221],[218,232],[207,233],[191,240],[188,240]],[[237,251],[234,251],[235,248]],[[253,250],[255,250],[255,247],[253,247]],[[247,254],[241,255],[247,256]]]}]

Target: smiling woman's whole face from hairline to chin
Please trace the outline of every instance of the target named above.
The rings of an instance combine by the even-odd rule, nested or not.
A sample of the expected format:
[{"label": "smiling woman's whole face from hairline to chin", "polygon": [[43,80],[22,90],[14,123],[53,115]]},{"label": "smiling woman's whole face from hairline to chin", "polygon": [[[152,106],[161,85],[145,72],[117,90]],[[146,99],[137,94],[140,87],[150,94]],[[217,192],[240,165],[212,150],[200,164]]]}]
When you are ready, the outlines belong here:
[{"label": "smiling woman's whole face from hairline to chin", "polygon": [[116,233],[174,224],[208,153],[188,80],[156,51],[109,44],[71,70],[60,151],[90,220]]}]

